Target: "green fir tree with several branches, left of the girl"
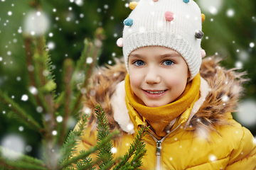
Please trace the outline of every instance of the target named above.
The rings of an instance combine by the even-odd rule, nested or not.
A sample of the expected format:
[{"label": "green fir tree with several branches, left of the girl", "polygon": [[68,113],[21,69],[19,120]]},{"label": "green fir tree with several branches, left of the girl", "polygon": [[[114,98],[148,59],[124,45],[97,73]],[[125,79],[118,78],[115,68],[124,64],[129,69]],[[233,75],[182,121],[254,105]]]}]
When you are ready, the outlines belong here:
[{"label": "green fir tree with several branches, left of the girl", "polygon": [[[40,6],[39,1],[34,1],[33,6]],[[35,118],[31,112],[20,106],[6,91],[0,89],[0,106],[8,111],[9,118],[16,118],[23,125],[38,132],[42,137],[43,159],[36,159],[24,154],[13,152],[0,147],[0,169],[110,169],[119,160],[122,162],[115,169],[137,169],[142,165],[141,159],[145,154],[145,145],[142,137],[147,128],[139,130],[129,152],[124,157],[113,159],[111,149],[112,141],[117,138],[119,132],[110,132],[107,126],[107,118],[100,106],[96,106],[97,115],[97,145],[86,151],[80,152],[78,157],[72,157],[72,153],[80,140],[82,132],[87,125],[87,115],[82,115],[76,130],[68,135],[68,118],[78,116],[80,105],[84,100],[84,91],[89,84],[88,79],[92,75],[93,68],[97,64],[97,57],[101,52],[104,30],[98,28],[94,40],[85,38],[84,50],[80,59],[74,64],[73,60],[66,59],[63,64],[63,81],[59,89],[53,73],[53,63],[46,40],[43,36],[24,34],[26,50],[26,66],[33,66],[33,72],[28,72],[28,89],[25,98],[32,103],[31,108],[41,106],[41,119]],[[92,62],[87,62],[90,58]],[[83,79],[77,81],[77,74],[83,75]],[[38,116],[38,115],[37,115]],[[90,154],[96,153],[97,160],[92,160]],[[136,154],[136,155],[135,155]]]}]

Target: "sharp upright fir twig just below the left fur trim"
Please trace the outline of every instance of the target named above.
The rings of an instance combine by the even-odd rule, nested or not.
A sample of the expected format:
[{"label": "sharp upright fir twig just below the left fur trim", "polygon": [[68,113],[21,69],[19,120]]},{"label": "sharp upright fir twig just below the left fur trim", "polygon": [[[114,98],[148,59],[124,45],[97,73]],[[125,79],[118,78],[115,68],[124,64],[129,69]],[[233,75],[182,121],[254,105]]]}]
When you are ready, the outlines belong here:
[{"label": "sharp upright fir twig just below the left fur trim", "polygon": [[[98,120],[97,145],[99,145],[100,141],[104,140],[108,135],[110,135],[110,126],[107,125],[108,124],[107,117],[105,115],[105,111],[102,111],[100,104],[96,106],[95,113]],[[101,162],[99,165],[99,168],[102,168],[108,162],[112,162],[112,159],[114,158],[111,152],[112,147],[113,147],[113,144],[112,144],[112,141],[110,141],[110,142],[107,142],[105,147],[102,147],[97,151],[97,159],[101,159],[102,157],[107,157],[107,161]]]}]

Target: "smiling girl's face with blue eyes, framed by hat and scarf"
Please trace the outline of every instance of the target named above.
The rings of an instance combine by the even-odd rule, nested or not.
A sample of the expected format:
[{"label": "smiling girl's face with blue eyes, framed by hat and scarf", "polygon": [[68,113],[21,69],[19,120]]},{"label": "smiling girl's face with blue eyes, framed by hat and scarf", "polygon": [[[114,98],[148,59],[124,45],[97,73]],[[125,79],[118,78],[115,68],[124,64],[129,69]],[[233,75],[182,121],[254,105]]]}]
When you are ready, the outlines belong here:
[{"label": "smiling girl's face with blue eyes, framed by hat and scarf", "polygon": [[129,79],[134,94],[149,107],[175,101],[183,93],[188,66],[181,55],[166,47],[142,47],[129,55]]}]

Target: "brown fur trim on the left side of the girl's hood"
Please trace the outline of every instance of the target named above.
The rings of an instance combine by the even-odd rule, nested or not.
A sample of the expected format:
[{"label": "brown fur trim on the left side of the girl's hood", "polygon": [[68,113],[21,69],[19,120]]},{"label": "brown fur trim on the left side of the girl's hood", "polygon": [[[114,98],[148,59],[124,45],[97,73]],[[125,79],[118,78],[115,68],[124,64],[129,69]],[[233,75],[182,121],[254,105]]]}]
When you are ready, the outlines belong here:
[{"label": "brown fur trim on the left side of the girl's hood", "polygon": [[[119,125],[113,118],[113,111],[110,104],[110,98],[114,93],[117,84],[124,80],[127,74],[123,60],[115,60],[114,66],[107,65],[106,67],[98,67],[90,79],[90,87],[88,93],[85,95],[84,107],[95,108],[99,103],[105,110],[105,115],[110,125],[111,130],[121,130]],[[95,123],[95,112],[92,111],[88,125]]]}]

